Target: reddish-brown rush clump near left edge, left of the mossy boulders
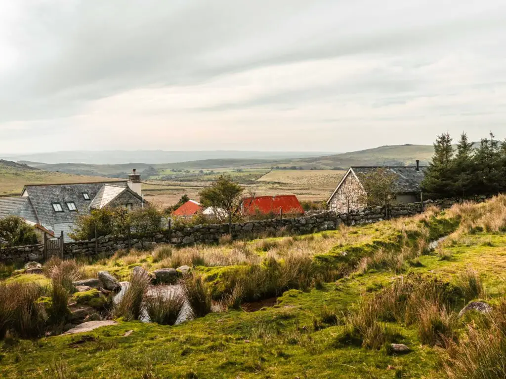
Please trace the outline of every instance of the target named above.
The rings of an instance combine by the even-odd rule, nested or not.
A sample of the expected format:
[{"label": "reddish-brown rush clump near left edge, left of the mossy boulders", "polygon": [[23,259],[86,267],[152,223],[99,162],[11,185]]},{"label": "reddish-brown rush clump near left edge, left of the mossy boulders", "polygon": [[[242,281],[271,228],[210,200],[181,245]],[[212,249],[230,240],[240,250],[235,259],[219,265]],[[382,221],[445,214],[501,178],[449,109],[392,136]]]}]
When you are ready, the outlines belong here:
[{"label": "reddish-brown rush clump near left edge, left of the mossy boulders", "polygon": [[13,304],[11,327],[21,338],[36,338],[43,333],[44,307],[37,300],[44,290],[33,282],[14,282],[7,291]]}]

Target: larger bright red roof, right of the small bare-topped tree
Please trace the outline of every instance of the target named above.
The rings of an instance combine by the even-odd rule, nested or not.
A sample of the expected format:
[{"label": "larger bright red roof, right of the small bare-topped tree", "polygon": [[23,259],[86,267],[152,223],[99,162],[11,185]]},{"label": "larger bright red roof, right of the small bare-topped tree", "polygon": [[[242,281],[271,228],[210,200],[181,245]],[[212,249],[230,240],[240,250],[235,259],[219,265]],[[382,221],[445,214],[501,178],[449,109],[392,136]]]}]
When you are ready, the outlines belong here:
[{"label": "larger bright red roof, right of the small bare-topped tree", "polygon": [[304,213],[295,195],[259,196],[242,200],[243,214],[255,214],[256,210],[263,214],[278,214],[280,209],[283,213]]}]

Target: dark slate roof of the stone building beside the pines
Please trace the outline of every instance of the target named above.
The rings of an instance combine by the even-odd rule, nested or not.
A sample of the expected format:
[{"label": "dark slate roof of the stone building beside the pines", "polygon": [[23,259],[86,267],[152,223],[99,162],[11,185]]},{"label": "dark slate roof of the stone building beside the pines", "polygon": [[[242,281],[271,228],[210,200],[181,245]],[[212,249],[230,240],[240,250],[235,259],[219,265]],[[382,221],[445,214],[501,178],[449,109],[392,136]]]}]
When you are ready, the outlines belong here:
[{"label": "dark slate roof of the stone building beside the pines", "polygon": [[416,170],[416,166],[351,167],[359,180],[361,177],[375,172],[378,168],[384,168],[388,172],[392,172],[397,175],[397,179],[394,182],[394,192],[397,194],[410,194],[420,192],[420,184],[421,181],[424,180],[425,171],[427,170],[426,166],[419,166],[418,171]]}]

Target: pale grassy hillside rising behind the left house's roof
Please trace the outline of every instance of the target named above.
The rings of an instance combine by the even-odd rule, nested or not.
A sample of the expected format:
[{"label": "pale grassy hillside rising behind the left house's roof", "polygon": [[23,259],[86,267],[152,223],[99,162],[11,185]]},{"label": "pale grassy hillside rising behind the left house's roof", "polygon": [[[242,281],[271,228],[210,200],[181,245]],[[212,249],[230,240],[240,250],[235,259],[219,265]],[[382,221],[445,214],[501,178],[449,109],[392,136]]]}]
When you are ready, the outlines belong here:
[{"label": "pale grassy hillside rising behind the left house's roof", "polygon": [[24,164],[0,161],[0,196],[21,194],[25,184],[79,183],[104,180],[99,176],[72,175],[39,170]]}]

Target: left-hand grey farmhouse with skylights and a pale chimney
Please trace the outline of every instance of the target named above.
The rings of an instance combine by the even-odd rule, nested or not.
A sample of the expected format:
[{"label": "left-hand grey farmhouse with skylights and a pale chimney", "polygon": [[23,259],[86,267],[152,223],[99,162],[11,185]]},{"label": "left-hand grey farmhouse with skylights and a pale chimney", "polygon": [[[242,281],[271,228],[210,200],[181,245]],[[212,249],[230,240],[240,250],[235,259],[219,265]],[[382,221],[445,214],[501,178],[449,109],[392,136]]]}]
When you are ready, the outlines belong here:
[{"label": "left-hand grey farmhouse with skylights and a pale chimney", "polygon": [[0,218],[16,215],[50,236],[71,241],[79,215],[93,209],[125,207],[132,210],[147,202],[142,196],[141,175],[134,169],[128,180],[94,183],[27,184],[20,197],[0,199]]}]

